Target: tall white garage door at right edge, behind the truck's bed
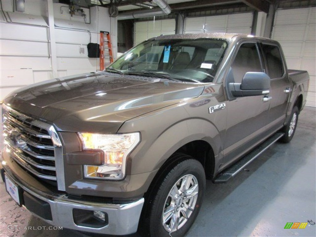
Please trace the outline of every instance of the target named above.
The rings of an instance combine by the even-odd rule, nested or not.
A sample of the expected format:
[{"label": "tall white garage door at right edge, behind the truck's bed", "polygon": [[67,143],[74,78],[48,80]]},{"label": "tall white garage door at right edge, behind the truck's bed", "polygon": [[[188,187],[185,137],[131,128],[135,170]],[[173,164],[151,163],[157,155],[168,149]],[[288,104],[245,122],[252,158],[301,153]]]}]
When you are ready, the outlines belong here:
[{"label": "tall white garage door at right edge, behind the truck's bed", "polygon": [[316,107],[316,8],[277,10],[272,39],[282,45],[289,69],[310,76],[307,106]]}]

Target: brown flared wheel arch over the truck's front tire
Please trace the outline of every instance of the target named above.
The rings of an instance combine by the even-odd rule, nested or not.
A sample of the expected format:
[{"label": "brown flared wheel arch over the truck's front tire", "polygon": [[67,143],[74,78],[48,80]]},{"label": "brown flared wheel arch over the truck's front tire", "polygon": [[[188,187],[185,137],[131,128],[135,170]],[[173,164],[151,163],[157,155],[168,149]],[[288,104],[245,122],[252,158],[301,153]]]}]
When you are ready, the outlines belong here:
[{"label": "brown flared wheel arch over the truck's front tire", "polygon": [[[157,131],[154,129],[153,131]],[[142,142],[131,154],[131,166],[128,173],[146,173],[152,171],[161,171],[161,167],[177,151],[191,155],[200,160],[205,165],[205,160],[194,155],[194,151],[199,151],[197,147],[201,146],[198,153],[206,150],[210,151],[210,156],[217,161],[222,157],[222,141],[216,126],[205,119],[193,118],[182,120],[163,130],[160,134],[154,134],[150,131],[141,131]],[[146,164],[146,165],[143,165]]]}]

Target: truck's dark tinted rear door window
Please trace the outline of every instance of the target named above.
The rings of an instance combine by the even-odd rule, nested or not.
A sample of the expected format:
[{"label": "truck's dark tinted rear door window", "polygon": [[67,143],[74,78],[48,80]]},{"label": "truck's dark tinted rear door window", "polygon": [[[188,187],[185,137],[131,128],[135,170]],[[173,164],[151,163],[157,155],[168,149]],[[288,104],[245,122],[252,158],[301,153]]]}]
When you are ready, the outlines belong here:
[{"label": "truck's dark tinted rear door window", "polygon": [[278,46],[263,44],[262,50],[267,61],[268,75],[270,78],[273,79],[282,77],[284,74],[284,68]]}]

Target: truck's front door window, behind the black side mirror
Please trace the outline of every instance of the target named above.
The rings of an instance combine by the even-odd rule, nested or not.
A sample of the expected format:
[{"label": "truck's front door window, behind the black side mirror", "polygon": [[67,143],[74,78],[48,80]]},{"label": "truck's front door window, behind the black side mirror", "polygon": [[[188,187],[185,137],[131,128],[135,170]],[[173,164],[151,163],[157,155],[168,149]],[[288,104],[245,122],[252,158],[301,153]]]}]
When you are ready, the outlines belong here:
[{"label": "truck's front door window, behind the black side mirror", "polygon": [[241,83],[246,72],[262,72],[256,44],[242,44],[231,67],[235,83]]}]

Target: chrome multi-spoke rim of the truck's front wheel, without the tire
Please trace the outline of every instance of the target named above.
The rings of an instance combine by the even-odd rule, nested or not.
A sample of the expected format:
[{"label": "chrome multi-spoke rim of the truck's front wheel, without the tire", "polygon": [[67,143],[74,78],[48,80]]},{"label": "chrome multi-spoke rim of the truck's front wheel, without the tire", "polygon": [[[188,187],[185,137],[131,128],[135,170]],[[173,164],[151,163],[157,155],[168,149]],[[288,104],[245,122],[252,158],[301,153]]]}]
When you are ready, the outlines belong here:
[{"label": "chrome multi-spoke rim of the truck's front wheel, without the tire", "polygon": [[169,233],[179,230],[190,218],[198,196],[197,178],[187,174],[171,188],[162,212],[162,224]]}]

